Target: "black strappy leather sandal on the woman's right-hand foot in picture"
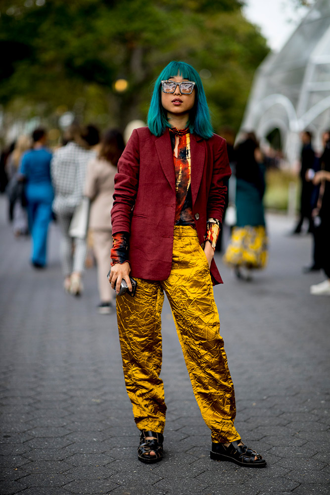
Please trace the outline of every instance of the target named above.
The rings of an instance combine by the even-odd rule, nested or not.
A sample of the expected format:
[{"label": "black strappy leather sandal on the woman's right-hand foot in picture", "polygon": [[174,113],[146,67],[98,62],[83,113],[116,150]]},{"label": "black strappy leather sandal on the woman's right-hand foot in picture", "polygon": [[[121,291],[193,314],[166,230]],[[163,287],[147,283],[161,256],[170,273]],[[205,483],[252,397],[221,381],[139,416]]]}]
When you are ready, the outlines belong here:
[{"label": "black strappy leather sandal on the woman's right-hand foot in picture", "polygon": [[[238,445],[238,444],[242,445]],[[224,444],[215,444],[212,442],[212,450],[210,452],[211,459],[217,461],[235,462],[239,466],[244,467],[266,467],[267,462],[261,457],[258,452],[248,448],[241,442],[236,440],[231,445],[226,447]],[[257,457],[257,458],[256,458]]]}]

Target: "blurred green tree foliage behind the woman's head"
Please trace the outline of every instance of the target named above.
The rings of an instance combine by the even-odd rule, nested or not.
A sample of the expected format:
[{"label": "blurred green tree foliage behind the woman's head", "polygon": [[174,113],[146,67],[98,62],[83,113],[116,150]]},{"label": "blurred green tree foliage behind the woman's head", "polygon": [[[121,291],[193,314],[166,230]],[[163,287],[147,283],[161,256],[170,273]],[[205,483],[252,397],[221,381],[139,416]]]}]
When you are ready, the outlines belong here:
[{"label": "blurred green tree foliage behind the woman's head", "polygon": [[[68,108],[123,127],[145,119],[159,71],[185,60],[201,71],[214,127],[237,129],[253,73],[268,52],[241,3],[1,0],[0,102],[46,115]],[[128,81],[121,94],[114,89],[119,78]]]}]

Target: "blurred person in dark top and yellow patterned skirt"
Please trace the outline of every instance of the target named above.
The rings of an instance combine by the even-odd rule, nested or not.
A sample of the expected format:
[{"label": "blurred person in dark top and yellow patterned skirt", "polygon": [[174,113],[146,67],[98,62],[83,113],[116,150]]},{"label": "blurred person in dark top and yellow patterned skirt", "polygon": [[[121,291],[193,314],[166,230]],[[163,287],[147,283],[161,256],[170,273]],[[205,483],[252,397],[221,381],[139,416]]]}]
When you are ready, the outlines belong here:
[{"label": "blurred person in dark top and yellow patterned skirt", "polygon": [[223,260],[237,278],[251,280],[251,272],[265,268],[268,240],[264,215],[265,166],[253,132],[236,150],[236,226]]}]

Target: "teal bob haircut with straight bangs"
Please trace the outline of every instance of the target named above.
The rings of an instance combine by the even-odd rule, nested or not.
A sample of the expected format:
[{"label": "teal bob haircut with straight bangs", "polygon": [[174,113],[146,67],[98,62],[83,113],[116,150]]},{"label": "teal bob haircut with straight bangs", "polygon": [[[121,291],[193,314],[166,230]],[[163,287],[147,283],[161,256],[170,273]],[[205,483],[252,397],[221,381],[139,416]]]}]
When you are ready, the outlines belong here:
[{"label": "teal bob haircut with straight bangs", "polygon": [[161,103],[161,81],[180,74],[184,79],[194,81],[195,104],[189,114],[189,131],[201,138],[208,139],[213,136],[210,112],[207,106],[202,81],[198,72],[186,62],[172,61],[161,71],[155,82],[153,94],[148,112],[148,127],[155,136],[164,134],[166,127],[171,127],[166,115],[166,110]]}]

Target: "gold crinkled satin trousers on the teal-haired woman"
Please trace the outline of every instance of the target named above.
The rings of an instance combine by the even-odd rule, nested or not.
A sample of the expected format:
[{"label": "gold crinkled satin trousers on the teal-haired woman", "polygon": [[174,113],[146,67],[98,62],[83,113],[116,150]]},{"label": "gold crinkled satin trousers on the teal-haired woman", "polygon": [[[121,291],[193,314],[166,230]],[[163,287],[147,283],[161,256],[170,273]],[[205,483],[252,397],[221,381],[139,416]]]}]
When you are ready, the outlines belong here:
[{"label": "gold crinkled satin trousers on the teal-haired woman", "polygon": [[172,270],[167,280],[137,279],[135,297],[117,297],[124,377],[139,430],[163,433],[166,405],[161,311],[164,292],[188,368],[193,393],[212,441],[234,442],[235,392],[228,369],[206,256],[192,227],[174,227]]}]

